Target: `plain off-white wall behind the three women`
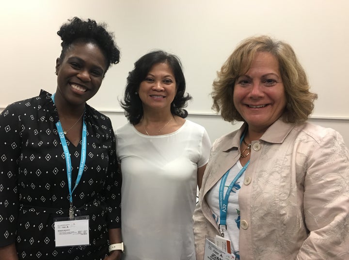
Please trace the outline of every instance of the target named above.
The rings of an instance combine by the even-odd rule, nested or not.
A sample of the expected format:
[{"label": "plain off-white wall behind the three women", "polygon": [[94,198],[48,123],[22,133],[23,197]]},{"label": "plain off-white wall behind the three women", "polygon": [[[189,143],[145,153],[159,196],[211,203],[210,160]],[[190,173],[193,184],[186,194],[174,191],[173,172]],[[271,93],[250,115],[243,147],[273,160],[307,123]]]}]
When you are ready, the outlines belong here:
[{"label": "plain off-white wall behind the three women", "polygon": [[212,140],[239,125],[211,111],[209,93],[216,71],[242,39],[269,34],[290,43],[318,93],[313,119],[338,130],[349,144],[349,1],[347,0],[17,0],[1,3],[0,110],[54,92],[56,32],[73,16],[105,21],[121,49],[89,104],[111,116],[116,128],[126,122],[118,99],[133,63],[152,49],[178,55],[187,90],[194,100],[190,119],[204,125]]}]

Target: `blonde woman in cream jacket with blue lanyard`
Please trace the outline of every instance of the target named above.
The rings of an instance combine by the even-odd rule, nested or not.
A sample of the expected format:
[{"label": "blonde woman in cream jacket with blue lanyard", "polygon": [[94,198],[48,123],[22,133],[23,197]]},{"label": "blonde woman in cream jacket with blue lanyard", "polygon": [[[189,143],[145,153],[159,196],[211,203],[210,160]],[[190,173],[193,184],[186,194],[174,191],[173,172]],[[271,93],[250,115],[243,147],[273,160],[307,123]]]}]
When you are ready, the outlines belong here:
[{"label": "blonde woman in cream jacket with blue lanyard", "polygon": [[194,212],[197,260],[223,236],[237,259],[349,259],[349,152],[306,122],[317,95],[292,47],[242,41],[213,83],[213,108],[239,130],[215,141]]}]

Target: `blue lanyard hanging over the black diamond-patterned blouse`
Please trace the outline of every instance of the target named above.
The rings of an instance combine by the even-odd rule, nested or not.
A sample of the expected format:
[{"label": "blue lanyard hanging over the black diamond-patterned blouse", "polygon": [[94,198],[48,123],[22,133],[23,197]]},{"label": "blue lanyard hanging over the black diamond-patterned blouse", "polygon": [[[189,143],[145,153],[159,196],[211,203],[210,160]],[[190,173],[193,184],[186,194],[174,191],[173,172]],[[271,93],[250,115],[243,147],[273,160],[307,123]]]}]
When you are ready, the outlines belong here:
[{"label": "blue lanyard hanging over the black diamond-patterned blouse", "polygon": [[[53,94],[51,96],[51,99],[54,103],[54,96],[55,94]],[[63,147],[63,152],[64,152],[64,156],[65,156],[65,162],[66,162],[66,170],[67,170],[67,178],[68,178],[68,188],[69,188],[69,202],[70,202],[70,208],[69,208],[69,218],[72,219],[74,218],[74,210],[73,210],[73,192],[75,190],[75,188],[77,188],[79,181],[81,179],[84,167],[85,167],[85,162],[86,162],[86,124],[85,124],[85,119],[84,117],[82,117],[82,145],[81,145],[81,159],[80,159],[80,165],[79,165],[79,173],[75,182],[75,187],[72,189],[71,188],[71,173],[72,173],[72,166],[71,166],[71,159],[70,159],[70,153],[69,153],[69,149],[68,149],[68,145],[66,144],[65,141],[65,136],[63,133],[63,128],[61,125],[61,122],[58,121],[56,123],[56,127],[58,130],[58,134],[59,137],[61,139],[61,144]]]}]

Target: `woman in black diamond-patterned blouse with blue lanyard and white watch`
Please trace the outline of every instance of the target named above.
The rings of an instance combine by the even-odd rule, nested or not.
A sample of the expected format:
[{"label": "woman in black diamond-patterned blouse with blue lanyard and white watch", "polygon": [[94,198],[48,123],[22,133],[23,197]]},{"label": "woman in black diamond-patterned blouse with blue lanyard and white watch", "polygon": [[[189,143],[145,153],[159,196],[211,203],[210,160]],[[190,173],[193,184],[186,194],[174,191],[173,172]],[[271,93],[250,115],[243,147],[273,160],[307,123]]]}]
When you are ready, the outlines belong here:
[{"label": "woman in black diamond-patterned blouse with blue lanyard and white watch", "polygon": [[56,93],[41,90],[0,114],[0,259],[121,257],[111,120],[86,103],[120,59],[105,27],[78,17],[63,24]]}]

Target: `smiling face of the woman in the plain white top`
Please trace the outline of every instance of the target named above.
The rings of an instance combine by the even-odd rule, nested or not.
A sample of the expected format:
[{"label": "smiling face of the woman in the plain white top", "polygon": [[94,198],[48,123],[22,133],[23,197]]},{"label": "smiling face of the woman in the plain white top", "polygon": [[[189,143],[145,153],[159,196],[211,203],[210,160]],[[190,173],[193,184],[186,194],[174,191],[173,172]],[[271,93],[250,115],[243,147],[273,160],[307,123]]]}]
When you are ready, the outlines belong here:
[{"label": "smiling face of the woman in the plain white top", "polygon": [[157,63],[151,67],[138,92],[144,111],[171,111],[171,103],[176,94],[176,81],[171,67],[167,63]]}]

